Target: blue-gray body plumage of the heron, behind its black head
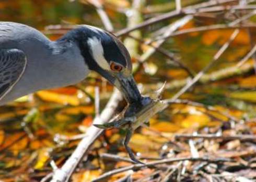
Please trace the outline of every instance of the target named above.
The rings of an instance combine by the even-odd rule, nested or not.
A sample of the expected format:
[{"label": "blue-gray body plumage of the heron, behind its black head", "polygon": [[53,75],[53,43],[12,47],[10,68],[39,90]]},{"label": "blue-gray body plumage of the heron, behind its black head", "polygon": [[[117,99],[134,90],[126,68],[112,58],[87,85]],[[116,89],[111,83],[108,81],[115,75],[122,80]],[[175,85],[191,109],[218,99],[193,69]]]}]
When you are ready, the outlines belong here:
[{"label": "blue-gray body plumage of the heron, behind its black head", "polygon": [[[9,85],[17,82],[9,92],[7,89],[0,89],[0,105],[40,89],[75,84],[86,77],[89,70],[77,45],[71,42],[60,49],[56,44],[57,42],[50,41],[41,32],[27,25],[0,22],[0,80]],[[22,56],[27,57],[27,66],[22,58],[8,54],[8,49],[23,52]],[[6,62],[9,64],[8,70],[11,70],[8,80],[4,78],[6,71],[3,69],[6,67],[2,67]],[[17,67],[21,67],[21,64],[26,69],[18,81],[23,69],[18,70]],[[2,87],[3,85],[2,83]]]}]

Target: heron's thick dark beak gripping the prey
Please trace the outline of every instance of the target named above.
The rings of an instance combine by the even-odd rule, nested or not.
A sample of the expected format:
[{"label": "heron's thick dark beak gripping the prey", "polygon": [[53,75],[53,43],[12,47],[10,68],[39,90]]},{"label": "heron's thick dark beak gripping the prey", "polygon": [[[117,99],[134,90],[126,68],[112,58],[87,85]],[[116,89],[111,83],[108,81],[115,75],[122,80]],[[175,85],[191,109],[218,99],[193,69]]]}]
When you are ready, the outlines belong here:
[{"label": "heron's thick dark beak gripping the prey", "polygon": [[120,90],[127,102],[134,103],[142,99],[132,75],[124,76],[123,74],[118,74],[115,77],[114,85]]}]

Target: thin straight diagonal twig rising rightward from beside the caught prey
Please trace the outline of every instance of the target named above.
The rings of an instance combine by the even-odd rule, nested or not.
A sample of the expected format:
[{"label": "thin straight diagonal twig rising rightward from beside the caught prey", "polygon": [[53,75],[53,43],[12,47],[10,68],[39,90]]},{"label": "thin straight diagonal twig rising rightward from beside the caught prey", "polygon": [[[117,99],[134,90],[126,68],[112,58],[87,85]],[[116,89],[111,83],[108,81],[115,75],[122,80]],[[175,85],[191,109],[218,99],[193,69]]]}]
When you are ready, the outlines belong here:
[{"label": "thin straight diagonal twig rising rightward from beside the caught prey", "polygon": [[195,77],[193,77],[193,79],[187,85],[185,85],[176,95],[172,97],[172,100],[178,99],[182,94],[187,92],[187,90],[192,85],[194,85],[197,81],[199,81],[199,79],[204,75],[204,73],[208,71],[213,66],[213,64],[219,59],[219,57],[224,53],[224,51],[228,48],[228,46],[235,39],[238,33],[239,33],[239,29],[236,29],[230,36],[229,40],[214,55],[212,62],[210,62],[203,70],[197,73]]}]

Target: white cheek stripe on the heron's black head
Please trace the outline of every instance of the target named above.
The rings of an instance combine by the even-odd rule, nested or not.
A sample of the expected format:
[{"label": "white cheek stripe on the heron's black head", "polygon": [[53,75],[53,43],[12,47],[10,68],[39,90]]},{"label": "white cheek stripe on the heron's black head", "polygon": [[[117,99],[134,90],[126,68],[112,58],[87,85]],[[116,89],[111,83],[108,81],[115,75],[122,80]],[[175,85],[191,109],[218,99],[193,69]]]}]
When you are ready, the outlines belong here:
[{"label": "white cheek stripe on the heron's black head", "polygon": [[92,57],[97,62],[97,64],[104,70],[110,70],[109,63],[104,58],[104,51],[100,40],[98,40],[96,37],[92,37],[88,38],[87,43],[90,47]]}]

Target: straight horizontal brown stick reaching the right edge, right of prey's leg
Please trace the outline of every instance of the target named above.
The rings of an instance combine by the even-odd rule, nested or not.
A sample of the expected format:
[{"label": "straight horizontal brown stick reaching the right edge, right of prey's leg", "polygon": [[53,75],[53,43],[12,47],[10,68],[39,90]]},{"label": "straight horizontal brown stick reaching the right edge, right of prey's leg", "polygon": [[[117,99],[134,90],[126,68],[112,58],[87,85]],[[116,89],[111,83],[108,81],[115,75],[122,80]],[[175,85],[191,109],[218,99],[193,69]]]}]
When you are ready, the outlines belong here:
[{"label": "straight horizontal brown stick reaching the right edge, right of prey's leg", "polygon": [[195,139],[195,138],[203,138],[203,139],[223,139],[223,140],[256,140],[255,135],[230,135],[230,136],[218,136],[218,135],[211,135],[211,134],[175,134],[175,139],[178,138],[185,138],[185,139]]}]

